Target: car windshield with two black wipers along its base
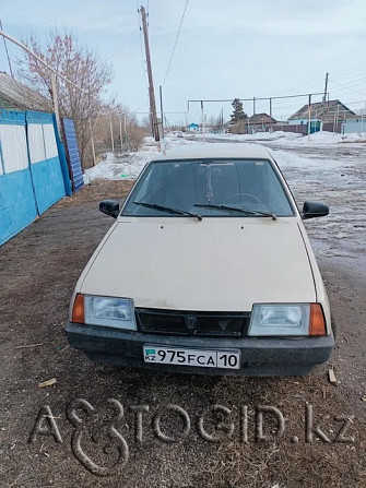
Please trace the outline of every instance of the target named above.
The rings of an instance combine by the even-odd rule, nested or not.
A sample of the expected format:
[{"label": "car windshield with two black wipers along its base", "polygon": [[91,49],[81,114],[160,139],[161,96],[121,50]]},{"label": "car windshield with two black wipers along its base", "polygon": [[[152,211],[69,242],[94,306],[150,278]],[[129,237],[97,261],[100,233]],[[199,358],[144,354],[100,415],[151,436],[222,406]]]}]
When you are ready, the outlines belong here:
[{"label": "car windshield with two black wipers along its base", "polygon": [[264,159],[153,162],[131,192],[122,215],[184,216],[169,215],[158,206],[208,217],[260,216],[255,211],[294,215],[274,168]]}]

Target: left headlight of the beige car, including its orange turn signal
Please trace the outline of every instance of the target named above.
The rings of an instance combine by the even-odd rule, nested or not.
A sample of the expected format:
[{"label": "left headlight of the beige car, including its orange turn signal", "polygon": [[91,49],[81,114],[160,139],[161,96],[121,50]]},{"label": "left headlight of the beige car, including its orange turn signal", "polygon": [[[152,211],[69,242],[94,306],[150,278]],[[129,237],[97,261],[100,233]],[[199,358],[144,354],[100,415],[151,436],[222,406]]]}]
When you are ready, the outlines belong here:
[{"label": "left headlight of the beige car, including its orange turn signal", "polygon": [[135,331],[134,306],[130,298],[76,295],[72,322]]}]

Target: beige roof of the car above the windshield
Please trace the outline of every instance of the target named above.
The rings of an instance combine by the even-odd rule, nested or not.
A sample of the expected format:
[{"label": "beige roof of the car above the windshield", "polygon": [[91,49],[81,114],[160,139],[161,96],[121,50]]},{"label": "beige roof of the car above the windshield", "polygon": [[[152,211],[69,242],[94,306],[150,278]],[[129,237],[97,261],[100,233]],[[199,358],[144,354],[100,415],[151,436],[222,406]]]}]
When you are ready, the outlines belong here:
[{"label": "beige roof of the car above the windshield", "polygon": [[172,159],[216,159],[216,158],[248,158],[270,159],[271,155],[267,147],[259,144],[248,143],[209,143],[209,144],[185,144],[167,150],[165,154],[158,153],[153,160]]}]

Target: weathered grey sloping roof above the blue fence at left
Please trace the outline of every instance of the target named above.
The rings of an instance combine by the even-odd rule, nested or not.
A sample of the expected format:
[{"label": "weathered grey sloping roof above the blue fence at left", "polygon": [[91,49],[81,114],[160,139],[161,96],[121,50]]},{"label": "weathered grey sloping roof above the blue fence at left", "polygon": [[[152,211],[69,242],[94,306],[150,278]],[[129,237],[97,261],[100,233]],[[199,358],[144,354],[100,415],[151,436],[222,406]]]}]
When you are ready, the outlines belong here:
[{"label": "weathered grey sloping roof above the blue fence at left", "polygon": [[0,71],[0,108],[52,111],[50,99]]}]

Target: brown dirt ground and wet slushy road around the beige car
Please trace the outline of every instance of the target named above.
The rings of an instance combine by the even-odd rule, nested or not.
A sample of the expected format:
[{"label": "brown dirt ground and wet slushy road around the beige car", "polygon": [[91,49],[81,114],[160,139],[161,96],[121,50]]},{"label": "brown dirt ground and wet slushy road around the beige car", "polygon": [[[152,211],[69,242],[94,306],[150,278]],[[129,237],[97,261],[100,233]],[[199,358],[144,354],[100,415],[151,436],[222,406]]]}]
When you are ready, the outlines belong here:
[{"label": "brown dirt ground and wet slushy road around the beige car", "polygon": [[[361,151],[365,160],[365,148],[347,151]],[[347,166],[346,155],[339,157]],[[330,364],[305,378],[152,373],[95,365],[68,346],[63,324],[73,286],[111,224],[97,203],[123,198],[131,182],[86,187],[2,246],[0,486],[366,487],[366,178],[349,166],[344,171],[353,175],[351,186],[347,178],[324,183],[320,170],[315,175],[306,168],[300,174],[291,166],[285,169],[298,202],[305,197],[321,200],[321,185],[327,185],[332,207],[330,217],[310,221],[307,229],[339,340]],[[347,215],[352,229],[342,236]],[[337,385],[328,381],[330,367]],[[56,384],[38,388],[52,378]],[[95,408],[90,417],[78,398]],[[108,398],[123,406],[123,416],[116,415]],[[172,404],[187,412],[189,429],[187,418],[184,421]],[[133,405],[149,408],[142,414],[140,432]],[[45,406],[49,409],[42,409]],[[79,407],[80,425],[71,406]],[[273,409],[263,414],[261,406],[282,414],[281,437],[275,435],[279,422]],[[39,412],[37,425],[44,435],[34,433]],[[173,442],[156,432],[160,414],[161,430]],[[261,415],[265,439],[258,429]],[[206,436],[200,433],[200,418]],[[111,426],[128,444],[125,464],[126,444]]]}]

